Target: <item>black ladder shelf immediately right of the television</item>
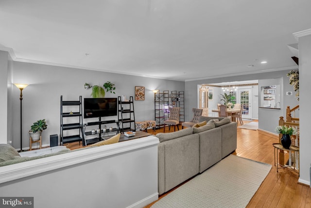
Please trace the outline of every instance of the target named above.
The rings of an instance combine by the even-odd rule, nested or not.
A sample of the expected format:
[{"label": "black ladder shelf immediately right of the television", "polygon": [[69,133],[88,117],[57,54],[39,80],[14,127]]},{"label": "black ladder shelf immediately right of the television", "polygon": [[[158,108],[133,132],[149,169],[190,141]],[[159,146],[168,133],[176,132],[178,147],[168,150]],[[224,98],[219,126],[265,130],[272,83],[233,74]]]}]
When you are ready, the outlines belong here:
[{"label": "black ladder shelf immediately right of the television", "polygon": [[136,131],[135,129],[135,113],[133,96],[130,96],[129,101],[122,101],[121,96],[118,96],[118,120],[120,131]]}]

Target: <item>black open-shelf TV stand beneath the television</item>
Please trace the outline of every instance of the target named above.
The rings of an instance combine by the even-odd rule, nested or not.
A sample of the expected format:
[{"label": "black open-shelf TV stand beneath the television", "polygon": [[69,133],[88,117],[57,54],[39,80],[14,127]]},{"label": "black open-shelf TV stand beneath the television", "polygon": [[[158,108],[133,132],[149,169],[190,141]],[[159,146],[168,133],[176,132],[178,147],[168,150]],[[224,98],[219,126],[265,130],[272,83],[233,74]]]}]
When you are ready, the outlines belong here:
[{"label": "black open-shelf TV stand beneath the television", "polygon": [[[115,123],[117,125],[117,128],[112,128],[112,131],[107,129],[106,132],[104,132],[102,130],[102,125],[113,124],[113,123]],[[97,133],[96,130],[95,130],[95,133],[86,132],[86,127],[87,126],[98,126],[98,129],[100,129],[101,131],[99,133]],[[92,139],[86,139],[86,136],[85,136],[85,143],[86,143],[86,145],[93,144],[93,143],[96,143],[96,142],[99,142],[99,141],[102,141],[102,140],[110,138],[111,135],[110,136],[109,135],[105,136],[105,134],[109,133],[109,132],[116,132],[116,134],[118,134],[120,132],[120,127],[119,127],[119,122],[118,121],[116,121],[116,120],[102,121],[102,118],[98,117],[98,121],[86,123],[85,126],[84,126],[84,134],[86,136],[97,135],[97,137],[92,138]]]}]

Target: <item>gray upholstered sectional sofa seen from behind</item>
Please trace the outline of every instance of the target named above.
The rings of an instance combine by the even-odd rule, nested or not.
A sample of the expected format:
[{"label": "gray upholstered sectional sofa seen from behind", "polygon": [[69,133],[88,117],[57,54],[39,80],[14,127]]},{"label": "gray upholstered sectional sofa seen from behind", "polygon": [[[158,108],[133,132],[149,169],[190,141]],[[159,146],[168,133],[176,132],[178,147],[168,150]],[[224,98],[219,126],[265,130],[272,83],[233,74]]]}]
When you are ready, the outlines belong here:
[{"label": "gray upholstered sectional sofa seen from behind", "polygon": [[[215,120],[216,119],[216,120]],[[219,121],[217,121],[219,120]],[[237,123],[226,117],[201,116],[207,124],[171,133],[157,133],[158,193],[202,173],[237,148]]]}]

